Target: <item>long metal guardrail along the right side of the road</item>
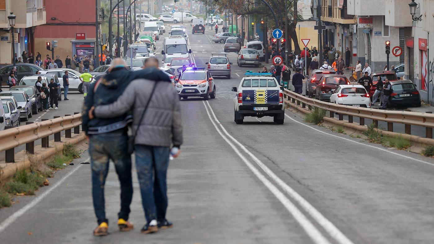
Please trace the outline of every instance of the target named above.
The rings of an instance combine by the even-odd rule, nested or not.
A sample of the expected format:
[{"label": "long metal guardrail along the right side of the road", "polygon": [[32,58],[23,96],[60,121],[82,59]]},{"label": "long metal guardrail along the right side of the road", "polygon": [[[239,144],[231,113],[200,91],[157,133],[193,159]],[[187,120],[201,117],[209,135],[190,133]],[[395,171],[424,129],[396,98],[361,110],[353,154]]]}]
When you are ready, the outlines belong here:
[{"label": "long metal guardrail along the right side of the road", "polygon": [[339,120],[343,120],[344,114],[348,115],[349,123],[353,123],[353,117],[360,118],[360,125],[365,125],[365,118],[373,120],[376,127],[378,127],[378,121],[385,121],[387,122],[387,130],[391,132],[393,132],[393,123],[399,123],[405,125],[406,134],[411,134],[411,125],[417,125],[426,128],[427,138],[433,138],[434,114],[338,105],[306,98],[288,89],[284,89],[283,94],[286,95],[288,101],[291,99],[297,105],[302,104],[303,108],[308,105],[309,110],[312,109],[311,106],[325,109],[330,112],[329,115],[332,118],[335,117],[334,113],[339,113]]}]

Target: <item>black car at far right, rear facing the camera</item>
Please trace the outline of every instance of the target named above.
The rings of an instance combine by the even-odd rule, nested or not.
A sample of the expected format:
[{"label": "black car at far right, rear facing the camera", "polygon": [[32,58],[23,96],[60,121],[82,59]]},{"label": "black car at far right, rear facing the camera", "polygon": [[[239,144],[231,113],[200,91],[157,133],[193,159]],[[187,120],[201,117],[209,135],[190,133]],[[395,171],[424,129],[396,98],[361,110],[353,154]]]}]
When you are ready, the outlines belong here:
[{"label": "black car at far right, rear facing the camera", "polygon": [[421,95],[419,94],[416,84],[410,80],[390,81],[392,93],[389,97],[391,107],[396,105],[421,107]]}]

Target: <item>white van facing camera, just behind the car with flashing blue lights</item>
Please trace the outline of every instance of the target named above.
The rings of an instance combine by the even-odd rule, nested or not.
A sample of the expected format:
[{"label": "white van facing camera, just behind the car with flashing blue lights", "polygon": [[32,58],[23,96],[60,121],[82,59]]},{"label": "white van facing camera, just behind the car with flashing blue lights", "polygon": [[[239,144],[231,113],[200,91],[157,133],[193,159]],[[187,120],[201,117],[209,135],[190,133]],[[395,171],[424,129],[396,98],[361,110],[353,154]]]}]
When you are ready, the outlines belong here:
[{"label": "white van facing camera, just behind the car with flashing blue lights", "polygon": [[163,50],[161,55],[164,55],[163,60],[166,57],[181,57],[188,58],[188,54],[191,53],[191,49],[188,49],[187,41],[183,36],[169,36],[163,40]]}]

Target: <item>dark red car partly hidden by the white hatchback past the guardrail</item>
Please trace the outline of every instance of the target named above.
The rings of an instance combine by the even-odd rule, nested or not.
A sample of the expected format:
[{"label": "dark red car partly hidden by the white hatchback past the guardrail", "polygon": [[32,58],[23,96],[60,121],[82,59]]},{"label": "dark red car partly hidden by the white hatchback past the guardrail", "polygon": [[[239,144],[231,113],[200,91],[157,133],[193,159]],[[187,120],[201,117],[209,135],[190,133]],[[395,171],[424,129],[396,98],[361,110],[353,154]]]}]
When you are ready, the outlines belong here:
[{"label": "dark red car partly hidden by the white hatchback past the guardrail", "polygon": [[338,85],[350,85],[350,82],[345,75],[323,75],[316,85],[315,99],[329,102],[330,96],[333,94]]}]

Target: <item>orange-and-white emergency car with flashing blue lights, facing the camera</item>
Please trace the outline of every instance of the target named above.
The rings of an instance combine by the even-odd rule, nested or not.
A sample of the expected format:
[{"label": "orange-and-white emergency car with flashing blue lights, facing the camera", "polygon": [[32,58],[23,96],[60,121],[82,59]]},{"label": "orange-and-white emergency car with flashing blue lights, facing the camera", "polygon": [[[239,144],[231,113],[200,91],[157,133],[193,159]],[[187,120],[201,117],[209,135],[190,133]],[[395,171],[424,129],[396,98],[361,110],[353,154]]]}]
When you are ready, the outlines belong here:
[{"label": "orange-and-white emergency car with flashing blue lights, facing the camera", "polygon": [[202,97],[204,100],[216,98],[216,85],[209,71],[204,67],[187,67],[175,79],[175,88],[179,99]]}]

